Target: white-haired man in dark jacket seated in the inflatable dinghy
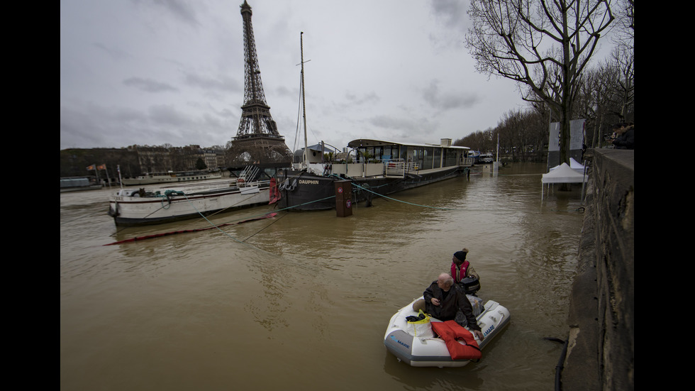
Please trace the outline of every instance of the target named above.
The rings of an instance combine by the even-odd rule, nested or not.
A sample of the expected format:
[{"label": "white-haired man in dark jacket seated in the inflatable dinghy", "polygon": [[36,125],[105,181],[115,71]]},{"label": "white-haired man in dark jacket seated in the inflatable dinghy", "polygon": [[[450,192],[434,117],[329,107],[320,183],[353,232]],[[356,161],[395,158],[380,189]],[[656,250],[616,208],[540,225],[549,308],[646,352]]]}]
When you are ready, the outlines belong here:
[{"label": "white-haired man in dark jacket seated in the inflatable dinghy", "polygon": [[[478,336],[480,341],[484,339],[480,326],[473,315],[473,307],[466,297],[466,292],[454,284],[454,279],[448,273],[442,273],[436,281],[433,281],[423,293],[425,298],[425,312],[440,321],[456,318],[457,312],[462,312],[466,317],[467,326]],[[463,325],[462,325],[463,326]]]}]

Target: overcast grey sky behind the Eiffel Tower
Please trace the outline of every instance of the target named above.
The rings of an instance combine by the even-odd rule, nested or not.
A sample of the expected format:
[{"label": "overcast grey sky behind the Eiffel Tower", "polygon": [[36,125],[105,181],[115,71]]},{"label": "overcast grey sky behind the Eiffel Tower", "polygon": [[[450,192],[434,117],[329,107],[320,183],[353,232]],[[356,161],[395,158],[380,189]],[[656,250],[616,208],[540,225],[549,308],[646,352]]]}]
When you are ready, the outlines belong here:
[{"label": "overcast grey sky behind the Eiffel Tower", "polygon": [[[467,0],[248,0],[270,114],[298,134],[300,32],[308,143],[439,143],[525,109],[475,71]],[[243,0],[61,0],[60,149],[210,147],[238,131]]]}]

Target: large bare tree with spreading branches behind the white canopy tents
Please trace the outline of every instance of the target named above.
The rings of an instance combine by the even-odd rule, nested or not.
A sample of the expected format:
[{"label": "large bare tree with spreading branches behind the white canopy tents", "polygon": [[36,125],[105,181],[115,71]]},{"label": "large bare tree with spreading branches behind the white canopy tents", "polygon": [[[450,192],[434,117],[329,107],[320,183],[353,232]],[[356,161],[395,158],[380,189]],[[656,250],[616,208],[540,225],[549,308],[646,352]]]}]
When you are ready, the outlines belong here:
[{"label": "large bare tree with spreading branches behind the white canopy tents", "polygon": [[569,163],[569,121],[582,72],[613,21],[611,0],[471,0],[466,45],[478,72],[528,86],[560,119],[560,161]]}]

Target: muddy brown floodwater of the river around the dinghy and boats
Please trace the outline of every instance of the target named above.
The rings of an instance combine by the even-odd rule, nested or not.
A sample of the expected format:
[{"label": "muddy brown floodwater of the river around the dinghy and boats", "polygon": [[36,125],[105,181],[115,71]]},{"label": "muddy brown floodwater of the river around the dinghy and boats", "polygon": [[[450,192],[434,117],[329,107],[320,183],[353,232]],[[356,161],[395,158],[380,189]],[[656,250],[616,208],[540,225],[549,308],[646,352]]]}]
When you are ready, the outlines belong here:
[{"label": "muddy brown floodwater of the river around the dinghy and boats", "polygon": [[[60,194],[60,390],[553,390],[584,214],[545,164],[335,211],[117,228],[116,188]],[[412,368],[389,319],[469,248],[511,323],[463,368]]]}]

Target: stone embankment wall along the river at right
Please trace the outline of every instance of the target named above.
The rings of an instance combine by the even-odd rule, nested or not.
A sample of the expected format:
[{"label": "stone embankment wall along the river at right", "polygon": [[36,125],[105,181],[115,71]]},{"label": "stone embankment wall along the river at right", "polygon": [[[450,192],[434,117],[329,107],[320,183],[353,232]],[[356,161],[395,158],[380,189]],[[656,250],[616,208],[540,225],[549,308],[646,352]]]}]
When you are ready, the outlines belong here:
[{"label": "stone embankment wall along the river at right", "polygon": [[596,149],[587,155],[591,173],[562,390],[634,390],[635,154]]}]

